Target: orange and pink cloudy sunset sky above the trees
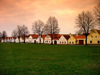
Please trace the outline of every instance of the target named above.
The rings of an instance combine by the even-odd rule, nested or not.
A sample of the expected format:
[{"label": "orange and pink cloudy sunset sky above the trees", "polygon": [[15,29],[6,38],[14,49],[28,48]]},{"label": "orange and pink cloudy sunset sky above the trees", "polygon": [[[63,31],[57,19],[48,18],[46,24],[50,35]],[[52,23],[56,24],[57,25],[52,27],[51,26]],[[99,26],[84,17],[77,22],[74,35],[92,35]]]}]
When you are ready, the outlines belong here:
[{"label": "orange and pink cloudy sunset sky above the trees", "polygon": [[47,22],[50,16],[58,20],[60,34],[74,34],[75,18],[82,11],[93,12],[99,0],[0,0],[0,32],[8,36],[17,25],[25,25],[32,34],[36,20]]}]

